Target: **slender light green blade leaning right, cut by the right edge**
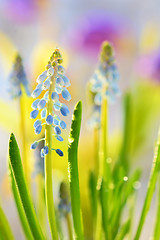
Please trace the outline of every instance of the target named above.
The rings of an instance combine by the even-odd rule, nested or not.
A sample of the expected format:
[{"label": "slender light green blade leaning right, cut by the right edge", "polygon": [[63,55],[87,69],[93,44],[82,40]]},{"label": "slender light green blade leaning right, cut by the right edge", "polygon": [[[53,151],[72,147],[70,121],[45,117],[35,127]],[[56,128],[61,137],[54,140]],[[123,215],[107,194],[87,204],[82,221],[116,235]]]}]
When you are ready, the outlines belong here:
[{"label": "slender light green blade leaning right, cut by the right edge", "polygon": [[145,201],[144,201],[141,217],[140,217],[140,220],[139,220],[139,224],[138,224],[138,228],[137,228],[137,232],[136,232],[134,240],[138,240],[140,238],[141,231],[142,231],[147,213],[148,213],[149,208],[150,208],[152,197],[153,197],[153,194],[154,194],[154,191],[155,191],[155,186],[156,186],[156,182],[157,182],[157,175],[158,175],[158,172],[159,172],[159,165],[160,165],[160,142],[159,142],[159,140],[160,140],[160,137],[158,138],[157,146],[156,146],[156,149],[155,149],[153,166],[152,166],[152,170],[151,170],[151,175],[150,175],[150,180],[149,180],[148,189],[147,189],[147,193],[146,193],[146,198],[145,198]]}]

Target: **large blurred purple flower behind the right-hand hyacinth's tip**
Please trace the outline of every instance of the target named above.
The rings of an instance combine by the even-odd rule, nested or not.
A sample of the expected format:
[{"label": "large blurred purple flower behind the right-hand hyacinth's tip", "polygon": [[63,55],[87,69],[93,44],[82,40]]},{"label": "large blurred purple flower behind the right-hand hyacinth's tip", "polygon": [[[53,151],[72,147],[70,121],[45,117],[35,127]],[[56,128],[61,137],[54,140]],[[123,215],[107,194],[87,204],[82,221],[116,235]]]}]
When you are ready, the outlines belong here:
[{"label": "large blurred purple flower behind the right-hand hyacinth's tip", "polygon": [[115,47],[126,35],[124,19],[104,11],[91,11],[70,33],[71,46],[89,55],[97,55],[103,41]]}]

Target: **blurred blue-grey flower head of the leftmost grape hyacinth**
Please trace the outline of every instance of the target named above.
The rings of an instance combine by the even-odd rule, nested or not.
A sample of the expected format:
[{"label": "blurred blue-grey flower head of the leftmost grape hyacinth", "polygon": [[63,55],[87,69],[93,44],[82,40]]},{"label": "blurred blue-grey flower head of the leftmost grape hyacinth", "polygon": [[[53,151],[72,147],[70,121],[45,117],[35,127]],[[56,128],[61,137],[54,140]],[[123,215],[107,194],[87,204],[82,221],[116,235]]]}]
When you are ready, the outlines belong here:
[{"label": "blurred blue-grey flower head of the leftmost grape hyacinth", "polygon": [[13,65],[12,72],[9,76],[10,88],[8,92],[12,98],[17,98],[22,95],[22,87],[26,94],[30,95],[28,80],[23,68],[22,58],[17,55]]}]

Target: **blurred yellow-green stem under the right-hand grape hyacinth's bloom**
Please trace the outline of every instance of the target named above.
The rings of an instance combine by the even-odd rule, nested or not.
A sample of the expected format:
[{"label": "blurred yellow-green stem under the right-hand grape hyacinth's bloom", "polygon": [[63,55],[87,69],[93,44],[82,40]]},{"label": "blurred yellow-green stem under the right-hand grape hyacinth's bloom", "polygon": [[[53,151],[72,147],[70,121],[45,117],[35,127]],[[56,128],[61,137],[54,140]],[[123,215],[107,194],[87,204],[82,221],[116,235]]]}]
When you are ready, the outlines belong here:
[{"label": "blurred yellow-green stem under the right-hand grape hyacinth's bloom", "polygon": [[[111,230],[109,226],[109,181],[110,181],[110,168],[109,164],[107,163],[107,140],[108,140],[108,102],[107,98],[103,98],[102,107],[101,107],[101,131],[100,131],[100,149],[99,149],[99,173],[98,173],[98,190],[101,190],[101,195],[103,196],[104,201],[101,201],[102,210],[100,207],[97,209],[97,224],[96,224],[96,236],[97,240],[101,238],[98,236],[98,232],[100,233],[101,230],[99,227],[102,226],[100,221],[102,222],[103,219],[103,227],[105,232],[105,238],[111,239]],[[101,183],[103,178],[103,188],[101,189]],[[100,204],[100,202],[98,202]],[[102,215],[102,217],[100,217]]]}]

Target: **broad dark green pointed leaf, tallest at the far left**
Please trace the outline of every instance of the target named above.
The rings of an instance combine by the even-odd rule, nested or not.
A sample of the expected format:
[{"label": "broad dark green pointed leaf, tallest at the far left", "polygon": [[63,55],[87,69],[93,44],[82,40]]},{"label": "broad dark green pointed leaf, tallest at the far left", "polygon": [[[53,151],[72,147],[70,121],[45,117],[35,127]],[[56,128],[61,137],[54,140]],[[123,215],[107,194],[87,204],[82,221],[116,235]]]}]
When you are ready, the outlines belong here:
[{"label": "broad dark green pointed leaf, tallest at the far left", "polygon": [[19,196],[33,237],[34,239],[39,240],[44,239],[31,201],[29,190],[27,188],[18,144],[13,133],[11,134],[9,141],[9,164],[11,166]]}]

